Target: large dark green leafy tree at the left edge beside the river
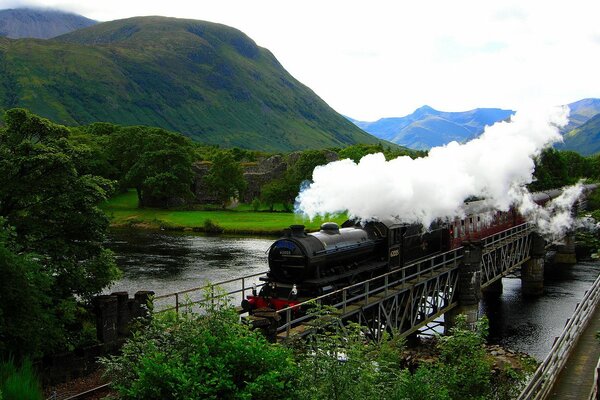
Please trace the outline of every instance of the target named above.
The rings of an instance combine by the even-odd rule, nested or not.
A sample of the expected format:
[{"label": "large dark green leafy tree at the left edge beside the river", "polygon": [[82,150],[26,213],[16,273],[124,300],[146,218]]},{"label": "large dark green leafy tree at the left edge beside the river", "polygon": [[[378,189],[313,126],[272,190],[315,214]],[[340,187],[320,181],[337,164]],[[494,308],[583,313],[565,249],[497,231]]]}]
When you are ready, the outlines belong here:
[{"label": "large dark green leafy tree at the left edge beside the river", "polygon": [[[60,320],[62,345],[69,346],[79,334],[76,299],[89,300],[118,275],[112,253],[102,245],[108,218],[98,208],[112,184],[79,172],[85,149],[68,141],[64,126],[23,109],[7,111],[5,122],[0,216],[14,227],[19,253],[36,255],[36,274],[51,285],[47,312]],[[4,260],[23,261],[10,255]],[[28,268],[34,267],[29,263]]]}]

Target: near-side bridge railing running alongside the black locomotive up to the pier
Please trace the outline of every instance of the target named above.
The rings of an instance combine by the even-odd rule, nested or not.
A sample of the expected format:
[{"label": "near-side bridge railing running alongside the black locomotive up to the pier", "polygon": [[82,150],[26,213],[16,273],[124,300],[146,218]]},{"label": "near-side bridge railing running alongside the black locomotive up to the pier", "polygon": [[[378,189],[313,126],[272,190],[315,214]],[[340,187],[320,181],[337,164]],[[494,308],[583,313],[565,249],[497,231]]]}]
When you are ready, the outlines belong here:
[{"label": "near-side bridge railing running alongside the black locomotive up to the pier", "polygon": [[279,324],[277,332],[286,332],[286,336],[289,337],[292,327],[314,318],[311,314],[299,313],[299,310],[310,309],[314,305],[326,304],[337,308],[344,315],[352,305],[369,304],[373,296],[387,295],[388,291],[394,287],[418,280],[425,275],[431,276],[433,272],[443,267],[449,265],[456,266],[458,260],[462,259],[462,257],[461,247],[409,263],[403,268],[315,297],[295,306],[278,310],[277,314],[279,314],[283,322]]}]

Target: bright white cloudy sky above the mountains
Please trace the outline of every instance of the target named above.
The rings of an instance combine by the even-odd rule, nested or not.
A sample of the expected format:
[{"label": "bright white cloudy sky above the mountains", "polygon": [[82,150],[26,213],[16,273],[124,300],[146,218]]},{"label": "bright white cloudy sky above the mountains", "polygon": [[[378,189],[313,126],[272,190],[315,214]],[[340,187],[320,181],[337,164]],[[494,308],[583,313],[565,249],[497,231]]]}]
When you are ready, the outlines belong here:
[{"label": "bright white cloudy sky above the mountains", "polygon": [[26,5],[233,26],[360,120],[600,97],[598,0],[0,0]]}]

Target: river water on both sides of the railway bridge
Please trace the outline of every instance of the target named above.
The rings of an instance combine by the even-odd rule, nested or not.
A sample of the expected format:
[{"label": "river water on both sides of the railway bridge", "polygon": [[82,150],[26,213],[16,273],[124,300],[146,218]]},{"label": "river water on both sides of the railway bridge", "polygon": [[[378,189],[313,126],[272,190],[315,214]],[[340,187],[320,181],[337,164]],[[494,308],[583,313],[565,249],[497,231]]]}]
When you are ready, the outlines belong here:
[{"label": "river water on both sides of the railway bridge", "polygon": [[[123,276],[108,292],[152,290],[161,295],[262,272],[272,243],[273,238],[115,230],[108,247],[116,253]],[[512,277],[502,280],[499,298],[482,300],[480,310],[490,319],[490,342],[543,360],[598,276],[600,263],[546,271],[541,297],[523,297],[520,279]]]}]

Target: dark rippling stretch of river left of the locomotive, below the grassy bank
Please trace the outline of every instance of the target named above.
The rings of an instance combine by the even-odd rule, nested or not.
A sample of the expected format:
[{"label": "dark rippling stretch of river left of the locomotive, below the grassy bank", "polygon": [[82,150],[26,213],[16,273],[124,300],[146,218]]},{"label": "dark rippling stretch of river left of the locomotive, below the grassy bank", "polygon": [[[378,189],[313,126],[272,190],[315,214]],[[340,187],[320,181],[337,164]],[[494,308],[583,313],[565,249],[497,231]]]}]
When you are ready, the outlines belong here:
[{"label": "dark rippling stretch of river left of the locomotive, below the grassy bank", "polygon": [[107,291],[161,295],[264,271],[272,243],[272,238],[115,230],[107,245],[123,277]]}]

